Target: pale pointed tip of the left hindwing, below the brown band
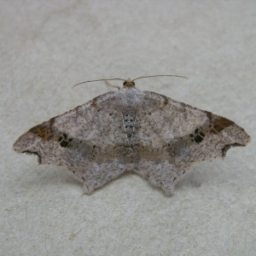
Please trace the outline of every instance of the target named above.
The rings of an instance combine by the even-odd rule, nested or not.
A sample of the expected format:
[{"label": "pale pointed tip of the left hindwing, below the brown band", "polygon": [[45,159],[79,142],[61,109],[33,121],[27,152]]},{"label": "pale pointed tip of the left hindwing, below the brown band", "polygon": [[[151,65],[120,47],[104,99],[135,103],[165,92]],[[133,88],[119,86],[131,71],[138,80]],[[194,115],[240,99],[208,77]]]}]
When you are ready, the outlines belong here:
[{"label": "pale pointed tip of the left hindwing, below the brown band", "polygon": [[88,166],[88,167],[68,167],[68,170],[83,182],[84,194],[90,195],[95,189],[102,186],[123,173],[122,169],[113,166]]}]

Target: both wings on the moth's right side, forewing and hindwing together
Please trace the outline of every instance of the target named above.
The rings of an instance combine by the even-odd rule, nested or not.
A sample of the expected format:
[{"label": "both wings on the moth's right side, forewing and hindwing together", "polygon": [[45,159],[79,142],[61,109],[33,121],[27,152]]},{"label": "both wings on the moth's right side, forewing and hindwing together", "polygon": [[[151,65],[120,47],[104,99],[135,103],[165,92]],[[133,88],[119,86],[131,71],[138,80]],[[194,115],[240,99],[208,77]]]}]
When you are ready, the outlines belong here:
[{"label": "both wings on the moth's right side, forewing and hindwing together", "polygon": [[135,172],[166,194],[172,194],[193,162],[224,157],[229,148],[245,146],[250,139],[229,119],[154,92],[144,93],[145,104],[137,117],[143,133],[138,133],[138,140],[144,148],[149,146],[150,153],[148,159],[140,158]]}]

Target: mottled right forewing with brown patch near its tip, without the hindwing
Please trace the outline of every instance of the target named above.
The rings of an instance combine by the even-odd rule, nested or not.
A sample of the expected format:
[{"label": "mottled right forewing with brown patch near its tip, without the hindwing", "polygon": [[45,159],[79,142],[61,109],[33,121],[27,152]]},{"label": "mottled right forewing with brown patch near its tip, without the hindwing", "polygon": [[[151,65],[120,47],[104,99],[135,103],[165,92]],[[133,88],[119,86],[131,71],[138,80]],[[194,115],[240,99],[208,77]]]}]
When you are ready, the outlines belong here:
[{"label": "mottled right forewing with brown patch near its tip, without the hindwing", "polygon": [[230,119],[154,92],[145,94],[151,112],[148,119],[154,121],[167,151],[179,163],[224,157],[228,148],[249,142],[247,132]]}]

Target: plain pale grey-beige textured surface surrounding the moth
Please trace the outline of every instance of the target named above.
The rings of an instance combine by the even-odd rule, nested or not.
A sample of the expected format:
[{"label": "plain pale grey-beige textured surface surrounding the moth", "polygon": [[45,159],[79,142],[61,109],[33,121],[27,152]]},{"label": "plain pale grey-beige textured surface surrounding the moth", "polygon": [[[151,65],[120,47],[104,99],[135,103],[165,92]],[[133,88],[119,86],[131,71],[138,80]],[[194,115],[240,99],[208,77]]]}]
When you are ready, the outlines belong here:
[{"label": "plain pale grey-beige textured surface surrounding the moth", "polygon": [[[1,255],[255,255],[255,1],[0,1]],[[85,79],[171,73],[153,90],[251,135],[167,197],[136,175],[96,193],[15,154],[33,125],[110,90]],[[106,124],[108,125],[108,124]],[[181,124],[182,125],[182,124]]]}]

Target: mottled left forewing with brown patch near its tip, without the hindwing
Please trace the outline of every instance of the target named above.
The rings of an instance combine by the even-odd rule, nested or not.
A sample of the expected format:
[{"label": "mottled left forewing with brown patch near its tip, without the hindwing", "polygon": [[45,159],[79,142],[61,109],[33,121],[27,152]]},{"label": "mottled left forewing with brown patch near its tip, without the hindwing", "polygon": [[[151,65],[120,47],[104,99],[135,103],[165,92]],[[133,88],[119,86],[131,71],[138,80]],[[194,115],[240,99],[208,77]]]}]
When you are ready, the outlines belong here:
[{"label": "mottled left forewing with brown patch near its tip, without the hindwing", "polygon": [[120,110],[108,108],[113,96],[110,92],[33,127],[16,141],[15,151],[38,154],[42,164],[62,166],[87,166],[92,159],[104,159],[99,147],[103,154],[109,144],[125,138],[125,133],[113,137],[121,124]]}]

